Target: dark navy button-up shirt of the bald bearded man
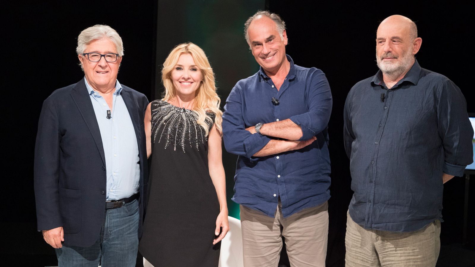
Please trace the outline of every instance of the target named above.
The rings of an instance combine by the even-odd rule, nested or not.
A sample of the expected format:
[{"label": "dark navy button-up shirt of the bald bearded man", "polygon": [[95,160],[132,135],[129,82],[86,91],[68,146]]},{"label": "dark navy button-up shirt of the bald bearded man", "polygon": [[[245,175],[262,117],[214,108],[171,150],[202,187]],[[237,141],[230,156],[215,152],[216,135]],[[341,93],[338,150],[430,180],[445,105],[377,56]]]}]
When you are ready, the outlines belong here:
[{"label": "dark navy button-up shirt of the bald bearded man", "polygon": [[472,137],[460,89],[417,61],[390,89],[381,71],[357,83],[344,110],[353,221],[409,232],[441,219],[442,175],[463,175]]}]

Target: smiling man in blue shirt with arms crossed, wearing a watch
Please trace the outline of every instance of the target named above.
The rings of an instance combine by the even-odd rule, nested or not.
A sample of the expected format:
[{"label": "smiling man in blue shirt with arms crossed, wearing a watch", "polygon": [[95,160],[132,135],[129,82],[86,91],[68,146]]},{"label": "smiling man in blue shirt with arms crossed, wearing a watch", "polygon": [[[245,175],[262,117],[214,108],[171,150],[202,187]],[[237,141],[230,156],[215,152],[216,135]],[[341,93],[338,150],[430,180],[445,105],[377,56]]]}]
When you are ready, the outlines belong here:
[{"label": "smiling man in blue shirt with arms crossed, wearing a watch", "polygon": [[240,205],[244,265],[277,266],[285,237],[292,266],[324,266],[328,235],[332,109],[323,72],[294,65],[276,14],[259,11],[245,36],[260,65],[226,101],[226,149],[239,155],[233,200]]}]

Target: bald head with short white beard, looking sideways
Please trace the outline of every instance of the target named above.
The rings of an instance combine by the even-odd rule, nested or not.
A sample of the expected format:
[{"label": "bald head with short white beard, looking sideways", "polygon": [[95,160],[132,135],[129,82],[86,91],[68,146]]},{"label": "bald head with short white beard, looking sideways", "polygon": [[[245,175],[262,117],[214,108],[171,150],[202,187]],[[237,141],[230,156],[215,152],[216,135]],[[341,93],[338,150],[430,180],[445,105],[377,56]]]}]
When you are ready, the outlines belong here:
[{"label": "bald head with short white beard, looking sideways", "polygon": [[419,51],[421,38],[411,38],[412,21],[391,16],[381,22],[376,33],[376,61],[383,74],[398,76],[409,71]]}]

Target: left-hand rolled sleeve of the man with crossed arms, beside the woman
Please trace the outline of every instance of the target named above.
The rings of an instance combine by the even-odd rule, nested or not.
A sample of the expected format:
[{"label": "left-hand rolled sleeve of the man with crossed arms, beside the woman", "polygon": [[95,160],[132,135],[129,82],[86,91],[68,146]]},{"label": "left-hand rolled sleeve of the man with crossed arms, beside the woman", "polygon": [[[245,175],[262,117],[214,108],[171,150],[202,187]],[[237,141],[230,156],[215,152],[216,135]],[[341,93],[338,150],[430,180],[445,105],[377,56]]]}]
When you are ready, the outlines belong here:
[{"label": "left-hand rolled sleeve of the man with crossed arms, beside the woman", "polygon": [[223,140],[229,153],[251,158],[269,143],[270,138],[261,134],[251,134],[246,130],[243,102],[241,86],[237,83],[224,106]]}]

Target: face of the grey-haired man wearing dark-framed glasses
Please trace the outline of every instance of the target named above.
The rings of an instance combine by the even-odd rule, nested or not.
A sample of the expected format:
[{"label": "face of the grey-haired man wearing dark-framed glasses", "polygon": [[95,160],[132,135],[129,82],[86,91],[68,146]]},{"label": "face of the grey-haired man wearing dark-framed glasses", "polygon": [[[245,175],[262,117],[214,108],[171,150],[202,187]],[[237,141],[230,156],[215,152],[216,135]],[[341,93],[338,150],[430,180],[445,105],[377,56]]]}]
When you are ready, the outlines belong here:
[{"label": "face of the grey-haired man wearing dark-framed glasses", "polygon": [[[114,43],[109,39],[99,39],[92,41],[84,50],[84,53],[117,53]],[[115,87],[117,74],[119,73],[119,66],[122,57],[118,57],[115,62],[107,62],[104,57],[101,57],[99,62],[91,62],[87,56],[78,55],[79,60],[84,69],[84,75],[87,82],[95,90],[105,92]]]}]

